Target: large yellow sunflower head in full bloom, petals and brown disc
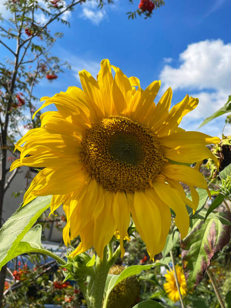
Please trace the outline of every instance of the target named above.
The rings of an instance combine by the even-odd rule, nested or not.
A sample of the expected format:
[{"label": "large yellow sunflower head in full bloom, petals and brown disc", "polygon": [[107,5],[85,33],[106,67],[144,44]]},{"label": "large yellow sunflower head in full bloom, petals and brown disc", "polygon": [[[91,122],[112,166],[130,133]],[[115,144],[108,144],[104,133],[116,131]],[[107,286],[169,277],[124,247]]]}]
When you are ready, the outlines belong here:
[{"label": "large yellow sunflower head in full bloom, petals and brown disc", "polygon": [[[206,158],[217,163],[205,145],[219,138],[179,128],[198,99],[187,95],[169,111],[169,88],[156,105],[160,81],[142,90],[137,78],[127,78],[107,59],[101,62],[97,80],[86,70],[79,74],[83,90],[69,87],[43,97],[38,111],[50,104],[57,111],[44,112],[41,127],[16,143],[21,156],[11,170],[45,167],[25,193],[24,205],[36,196],[53,195],[51,213],[63,205],[66,214],[64,243],[81,237],[72,256],[94,246],[101,259],[114,234],[123,256],[131,213],[153,258],[165,246],[170,208],[184,238],[189,228],[186,204],[195,210],[199,201],[195,186],[207,189],[203,176],[183,164]],[[192,200],[180,182],[190,187]]]}]

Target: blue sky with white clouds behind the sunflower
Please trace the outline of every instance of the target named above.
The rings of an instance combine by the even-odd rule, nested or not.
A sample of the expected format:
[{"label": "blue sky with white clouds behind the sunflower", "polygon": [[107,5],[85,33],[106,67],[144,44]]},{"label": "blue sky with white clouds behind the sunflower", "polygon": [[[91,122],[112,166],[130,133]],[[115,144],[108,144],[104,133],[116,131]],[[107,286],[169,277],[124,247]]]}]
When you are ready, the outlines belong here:
[{"label": "blue sky with white clouds behind the sunflower", "polygon": [[[153,11],[152,18],[132,21],[126,13],[138,6],[139,0],[133,2],[129,5],[128,0],[117,0],[103,10],[94,2],[87,2],[66,14],[70,28],[52,25],[52,32],[64,33],[52,54],[68,60],[72,69],[60,74],[52,84],[42,81],[35,95],[52,96],[66,91],[68,86],[81,87],[78,71],[87,69],[96,76],[100,61],[108,58],[126,75],[137,76],[142,88],[161,79],[161,95],[171,86],[173,105],[187,93],[198,97],[199,107],[181,124],[187,130],[195,130],[231,94],[231,2],[166,0],[164,7]],[[220,136],[224,118],[200,131]],[[231,134],[230,127],[225,127],[224,133]]]}]

